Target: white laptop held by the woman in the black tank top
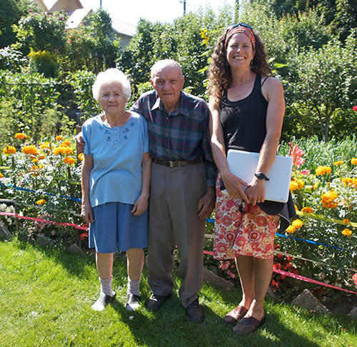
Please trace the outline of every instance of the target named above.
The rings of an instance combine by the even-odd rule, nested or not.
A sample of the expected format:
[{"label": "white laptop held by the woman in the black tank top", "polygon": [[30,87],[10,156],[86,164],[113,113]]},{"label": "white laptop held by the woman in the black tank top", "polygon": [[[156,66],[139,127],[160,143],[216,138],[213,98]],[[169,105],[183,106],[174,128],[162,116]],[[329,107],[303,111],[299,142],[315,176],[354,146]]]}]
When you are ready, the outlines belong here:
[{"label": "white laptop held by the woman in the black tank top", "polygon": [[[229,171],[247,183],[251,182],[256,173],[258,159],[259,154],[254,152],[229,149],[227,154]],[[283,203],[288,201],[292,168],[293,159],[290,156],[276,156],[270,170],[264,173],[269,178],[264,184],[266,200]]]}]

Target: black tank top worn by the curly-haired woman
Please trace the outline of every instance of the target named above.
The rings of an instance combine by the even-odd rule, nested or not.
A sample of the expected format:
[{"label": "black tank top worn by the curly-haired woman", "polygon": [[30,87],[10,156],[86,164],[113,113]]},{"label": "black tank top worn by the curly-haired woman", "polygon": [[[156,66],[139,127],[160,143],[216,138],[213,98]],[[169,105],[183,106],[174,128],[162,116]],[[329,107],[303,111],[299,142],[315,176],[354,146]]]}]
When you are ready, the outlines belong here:
[{"label": "black tank top worn by the curly-haired woman", "polygon": [[259,153],[266,138],[268,109],[268,101],[261,93],[261,76],[256,75],[253,91],[245,99],[229,101],[224,91],[220,109],[226,151],[239,149]]}]

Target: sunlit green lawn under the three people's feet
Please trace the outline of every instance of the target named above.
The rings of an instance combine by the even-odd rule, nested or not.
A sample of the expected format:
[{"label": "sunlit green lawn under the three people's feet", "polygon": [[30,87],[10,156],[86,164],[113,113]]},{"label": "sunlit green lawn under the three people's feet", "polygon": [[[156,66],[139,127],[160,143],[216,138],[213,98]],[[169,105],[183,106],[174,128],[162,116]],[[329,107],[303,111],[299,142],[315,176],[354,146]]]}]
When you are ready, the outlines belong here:
[{"label": "sunlit green lawn under the three people's feet", "polygon": [[[41,248],[16,238],[0,241],[0,346],[357,346],[356,319],[322,315],[266,301],[266,324],[236,336],[222,317],[241,298],[239,288],[205,283],[200,301],[204,323],[191,323],[177,296],[156,313],[144,305],[125,310],[126,268],[114,263],[116,300],[104,312],[91,310],[99,294],[94,258]],[[141,281],[150,294],[146,269]],[[176,275],[176,273],[175,273]],[[180,279],[176,276],[176,287]]]}]

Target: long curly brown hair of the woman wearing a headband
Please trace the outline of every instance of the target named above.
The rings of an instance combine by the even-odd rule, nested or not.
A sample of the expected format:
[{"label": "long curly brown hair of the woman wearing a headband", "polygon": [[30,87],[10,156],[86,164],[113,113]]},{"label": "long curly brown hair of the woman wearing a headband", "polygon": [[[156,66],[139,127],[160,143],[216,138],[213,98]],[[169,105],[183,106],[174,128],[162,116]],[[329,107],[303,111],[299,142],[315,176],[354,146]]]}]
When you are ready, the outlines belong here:
[{"label": "long curly brown hair of the woman wearing a headband", "polygon": [[[251,70],[261,76],[272,76],[268,65],[266,49],[261,38],[253,32],[256,39],[256,54],[254,55]],[[226,34],[218,38],[216,47],[213,49],[212,60],[208,71],[208,87],[206,94],[219,101],[223,91],[228,89],[231,83],[231,68],[227,62],[227,51],[224,46]]]}]

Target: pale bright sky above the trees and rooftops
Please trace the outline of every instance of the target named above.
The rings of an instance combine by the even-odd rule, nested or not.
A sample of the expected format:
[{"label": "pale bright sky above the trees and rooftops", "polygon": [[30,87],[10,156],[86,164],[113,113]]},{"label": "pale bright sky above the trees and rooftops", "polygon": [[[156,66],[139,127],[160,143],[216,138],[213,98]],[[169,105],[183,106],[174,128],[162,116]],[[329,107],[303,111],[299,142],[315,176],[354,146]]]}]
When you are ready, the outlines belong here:
[{"label": "pale bright sky above the trees and rooftops", "polygon": [[[183,0],[181,0],[183,1]],[[180,0],[81,0],[87,8],[96,10],[101,6],[109,12],[111,19],[136,25],[139,19],[171,23],[183,14],[183,2]],[[218,11],[223,4],[232,5],[235,0],[186,0],[186,13],[209,6]]]}]

